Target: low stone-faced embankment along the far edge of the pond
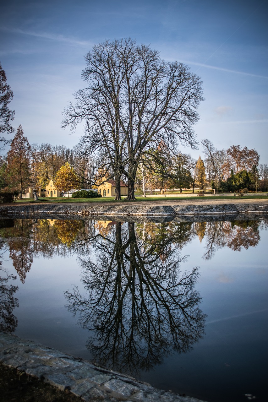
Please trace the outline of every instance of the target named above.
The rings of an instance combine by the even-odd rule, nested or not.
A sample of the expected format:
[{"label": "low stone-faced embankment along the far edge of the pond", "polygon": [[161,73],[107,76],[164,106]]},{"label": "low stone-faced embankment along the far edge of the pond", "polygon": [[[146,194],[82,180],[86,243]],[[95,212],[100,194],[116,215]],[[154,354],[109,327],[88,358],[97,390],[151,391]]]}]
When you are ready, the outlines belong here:
[{"label": "low stone-faced embankment along the far edge of the pond", "polygon": [[[64,216],[61,216],[64,215]],[[268,216],[268,203],[221,203],[221,204],[180,204],[180,205],[132,205],[74,203],[74,204],[36,204],[10,205],[0,207],[2,217],[25,218],[60,218],[72,215],[76,217],[91,217],[92,219],[114,219],[124,217],[124,220],[134,220],[133,217],[144,217],[146,220],[164,221],[183,217],[236,217],[240,215]],[[226,218],[225,218],[226,219]],[[138,219],[137,219],[138,220]]]}]

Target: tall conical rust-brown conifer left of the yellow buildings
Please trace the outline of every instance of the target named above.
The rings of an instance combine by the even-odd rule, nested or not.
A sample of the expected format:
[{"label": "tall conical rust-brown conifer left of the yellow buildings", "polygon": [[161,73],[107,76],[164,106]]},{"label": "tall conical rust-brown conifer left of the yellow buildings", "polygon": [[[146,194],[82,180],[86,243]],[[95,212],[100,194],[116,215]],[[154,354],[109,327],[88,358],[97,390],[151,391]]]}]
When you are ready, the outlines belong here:
[{"label": "tall conical rust-brown conifer left of the yellow buildings", "polygon": [[22,192],[30,184],[30,144],[23,135],[23,129],[19,125],[16,135],[11,142],[6,162],[6,175],[9,186],[19,189],[19,198]]}]

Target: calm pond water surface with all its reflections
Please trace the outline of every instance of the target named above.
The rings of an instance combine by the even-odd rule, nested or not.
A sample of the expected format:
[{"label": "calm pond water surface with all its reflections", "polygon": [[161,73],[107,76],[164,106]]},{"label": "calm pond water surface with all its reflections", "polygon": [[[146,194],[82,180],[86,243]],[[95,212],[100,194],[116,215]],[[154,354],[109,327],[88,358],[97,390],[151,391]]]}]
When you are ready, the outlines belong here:
[{"label": "calm pond water surface with all its reflections", "polygon": [[0,221],[0,326],[207,401],[268,400],[268,222]]}]

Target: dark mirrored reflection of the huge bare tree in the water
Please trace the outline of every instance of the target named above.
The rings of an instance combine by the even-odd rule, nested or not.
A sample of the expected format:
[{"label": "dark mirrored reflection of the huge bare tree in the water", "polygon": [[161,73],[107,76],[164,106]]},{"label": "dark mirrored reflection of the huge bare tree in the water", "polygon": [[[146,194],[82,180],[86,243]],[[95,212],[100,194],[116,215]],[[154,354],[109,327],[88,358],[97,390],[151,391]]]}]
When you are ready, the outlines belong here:
[{"label": "dark mirrored reflection of the huge bare tree in the water", "polygon": [[66,292],[68,310],[95,332],[87,343],[95,361],[132,374],[161,363],[172,350],[189,351],[205,318],[194,289],[198,269],[180,277],[172,239],[162,236],[145,246],[140,229],[136,236],[134,223],[115,222],[108,236],[91,236],[95,255],[80,260],[89,297],[77,287]]}]

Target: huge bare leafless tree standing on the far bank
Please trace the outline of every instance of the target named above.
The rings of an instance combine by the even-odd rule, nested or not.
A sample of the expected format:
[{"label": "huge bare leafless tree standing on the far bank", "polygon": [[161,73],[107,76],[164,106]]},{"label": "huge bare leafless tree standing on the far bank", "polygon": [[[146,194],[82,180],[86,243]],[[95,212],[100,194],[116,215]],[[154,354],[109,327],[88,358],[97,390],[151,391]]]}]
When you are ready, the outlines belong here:
[{"label": "huge bare leafless tree standing on the far bank", "polygon": [[85,124],[83,141],[109,161],[120,199],[120,178],[128,179],[128,199],[142,153],[162,140],[196,148],[192,125],[202,98],[202,82],[187,66],[165,62],[159,52],[131,39],[105,41],[85,56],[87,87],[64,109],[62,127]]}]

